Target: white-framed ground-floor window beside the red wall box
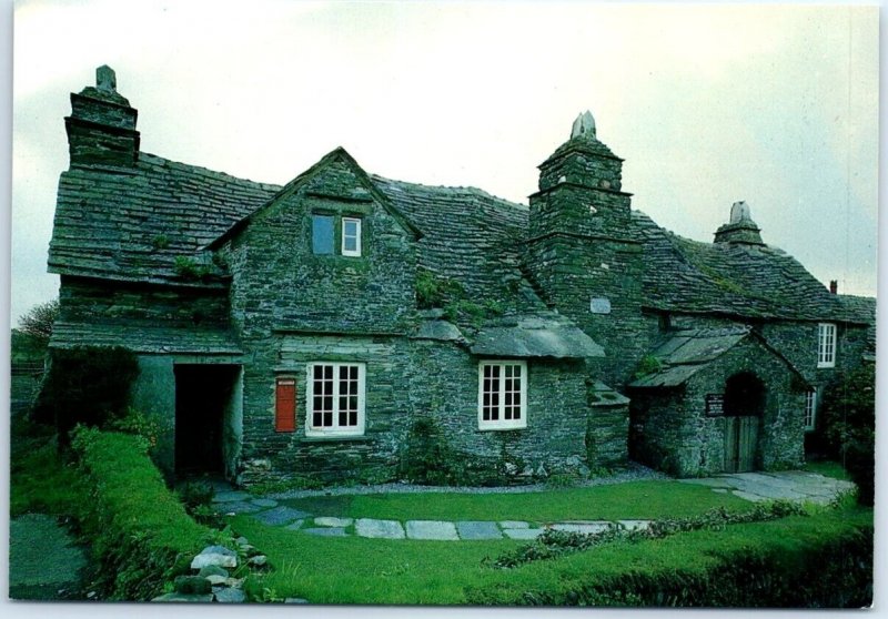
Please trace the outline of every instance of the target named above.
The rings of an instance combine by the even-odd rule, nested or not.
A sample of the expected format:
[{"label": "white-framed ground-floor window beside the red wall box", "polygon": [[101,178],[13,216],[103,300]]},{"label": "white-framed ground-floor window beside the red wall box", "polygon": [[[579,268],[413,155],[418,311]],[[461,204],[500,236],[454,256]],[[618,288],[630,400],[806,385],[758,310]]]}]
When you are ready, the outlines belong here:
[{"label": "white-framed ground-floor window beside the red wall box", "polygon": [[305,436],[363,435],[365,365],[316,362],[307,368]]}]

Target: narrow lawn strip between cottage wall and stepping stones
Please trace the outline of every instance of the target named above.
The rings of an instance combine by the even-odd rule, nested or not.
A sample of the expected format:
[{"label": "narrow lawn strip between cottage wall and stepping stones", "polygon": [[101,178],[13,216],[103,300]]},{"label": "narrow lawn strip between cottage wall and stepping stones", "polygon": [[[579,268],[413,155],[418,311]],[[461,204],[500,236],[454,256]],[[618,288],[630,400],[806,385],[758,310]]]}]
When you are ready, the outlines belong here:
[{"label": "narrow lawn strip between cottage wall and stepping stones", "polygon": [[355,495],[281,501],[319,516],[392,520],[616,520],[684,517],[749,504],[730,494],[678,481],[634,481],[538,493]]}]

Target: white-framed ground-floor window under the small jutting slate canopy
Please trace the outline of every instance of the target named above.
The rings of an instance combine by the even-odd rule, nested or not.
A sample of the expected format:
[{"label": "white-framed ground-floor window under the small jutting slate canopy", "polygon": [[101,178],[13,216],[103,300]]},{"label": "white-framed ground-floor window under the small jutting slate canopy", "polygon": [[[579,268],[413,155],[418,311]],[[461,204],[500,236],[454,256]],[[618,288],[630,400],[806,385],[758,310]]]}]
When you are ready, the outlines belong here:
[{"label": "white-framed ground-floor window under the small jutting slate canopy", "polygon": [[527,363],[478,364],[478,429],[527,427]]}]

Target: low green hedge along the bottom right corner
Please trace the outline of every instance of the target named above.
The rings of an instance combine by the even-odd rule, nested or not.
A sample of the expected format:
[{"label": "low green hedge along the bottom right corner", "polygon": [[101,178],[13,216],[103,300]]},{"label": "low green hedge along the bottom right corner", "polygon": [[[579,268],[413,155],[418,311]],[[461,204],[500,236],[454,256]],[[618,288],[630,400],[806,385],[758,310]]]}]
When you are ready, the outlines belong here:
[{"label": "low green hedge along the bottom right corner", "polygon": [[860,608],[872,600],[872,513],[827,511],[619,542],[504,569],[466,590],[495,606]]}]

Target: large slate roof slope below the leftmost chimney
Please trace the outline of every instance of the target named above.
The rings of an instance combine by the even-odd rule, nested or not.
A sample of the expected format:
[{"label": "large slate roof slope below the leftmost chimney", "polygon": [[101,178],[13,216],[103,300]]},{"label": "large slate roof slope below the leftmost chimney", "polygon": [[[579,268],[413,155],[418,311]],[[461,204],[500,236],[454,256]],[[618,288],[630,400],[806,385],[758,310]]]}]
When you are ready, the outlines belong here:
[{"label": "large slate roof slope below the leftmost chimney", "polygon": [[140,153],[131,170],[71,168],[59,181],[49,271],[123,281],[183,282],[195,252],[279,190]]}]

